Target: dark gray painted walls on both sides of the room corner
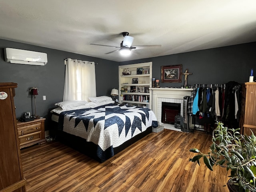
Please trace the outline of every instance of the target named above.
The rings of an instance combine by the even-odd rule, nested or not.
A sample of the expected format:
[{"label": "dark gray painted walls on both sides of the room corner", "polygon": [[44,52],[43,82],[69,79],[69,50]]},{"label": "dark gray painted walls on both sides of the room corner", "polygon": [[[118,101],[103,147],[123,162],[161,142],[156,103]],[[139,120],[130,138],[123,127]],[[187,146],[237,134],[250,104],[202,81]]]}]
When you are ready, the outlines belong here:
[{"label": "dark gray painted walls on both sides of the room corner", "polygon": [[[4,61],[4,48],[18,48],[45,52],[48,55],[46,66],[10,64]],[[94,61],[96,65],[97,96],[110,96],[111,89],[118,87],[118,65],[134,64],[152,61],[152,77],[161,79],[161,66],[182,64],[182,72],[188,68],[192,75],[188,76],[188,84],[225,84],[229,81],[248,82],[251,68],[256,76],[256,42],[226,46],[208,50],[186,52],[154,58],[114,62],[50,48],[33,46],[24,43],[0,39],[0,82],[16,82],[16,116],[23,112],[32,112],[32,100],[28,89],[36,86],[39,95],[36,97],[36,110],[39,116],[47,118],[46,130],[50,129],[48,110],[54,108],[54,103],[62,101],[64,90],[64,59],[81,59]],[[181,83],[161,83],[162,87],[180,87]],[[42,96],[46,95],[46,101]],[[48,126],[49,125],[49,126]]]}]

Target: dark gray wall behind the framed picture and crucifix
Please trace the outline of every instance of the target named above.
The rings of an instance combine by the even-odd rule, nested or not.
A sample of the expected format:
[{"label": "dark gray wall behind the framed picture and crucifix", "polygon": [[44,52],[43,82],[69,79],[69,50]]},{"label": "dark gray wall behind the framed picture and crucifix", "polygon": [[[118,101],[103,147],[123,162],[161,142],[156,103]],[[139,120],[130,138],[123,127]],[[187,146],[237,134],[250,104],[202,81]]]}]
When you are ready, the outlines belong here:
[{"label": "dark gray wall behind the framed picture and crucifix", "polygon": [[[135,50],[136,51],[136,50]],[[256,77],[256,42],[186,52],[161,57],[121,62],[120,65],[152,61],[152,77],[160,80],[161,87],[180,87],[181,83],[161,83],[161,66],[180,65],[188,68],[188,84],[225,84],[229,81],[248,82],[250,71]]]}]

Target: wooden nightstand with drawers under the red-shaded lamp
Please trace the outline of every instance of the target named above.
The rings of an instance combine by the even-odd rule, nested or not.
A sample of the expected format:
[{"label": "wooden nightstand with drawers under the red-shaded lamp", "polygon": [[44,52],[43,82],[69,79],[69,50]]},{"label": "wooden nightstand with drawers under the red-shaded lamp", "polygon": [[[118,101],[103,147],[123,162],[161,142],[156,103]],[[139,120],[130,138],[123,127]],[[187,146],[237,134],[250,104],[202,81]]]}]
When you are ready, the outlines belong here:
[{"label": "wooden nightstand with drawers under the red-shaded lamp", "polygon": [[20,149],[46,142],[44,136],[44,120],[45,118],[35,119],[29,122],[17,122]]}]

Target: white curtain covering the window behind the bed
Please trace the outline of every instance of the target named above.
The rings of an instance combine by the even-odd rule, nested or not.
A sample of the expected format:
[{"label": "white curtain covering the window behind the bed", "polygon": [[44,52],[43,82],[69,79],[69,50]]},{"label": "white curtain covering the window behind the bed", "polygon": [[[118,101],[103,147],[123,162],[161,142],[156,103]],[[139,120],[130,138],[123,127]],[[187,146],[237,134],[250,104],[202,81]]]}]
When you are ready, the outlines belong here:
[{"label": "white curtain covering the window behind the bed", "polygon": [[94,62],[67,59],[63,101],[86,100],[96,97]]}]

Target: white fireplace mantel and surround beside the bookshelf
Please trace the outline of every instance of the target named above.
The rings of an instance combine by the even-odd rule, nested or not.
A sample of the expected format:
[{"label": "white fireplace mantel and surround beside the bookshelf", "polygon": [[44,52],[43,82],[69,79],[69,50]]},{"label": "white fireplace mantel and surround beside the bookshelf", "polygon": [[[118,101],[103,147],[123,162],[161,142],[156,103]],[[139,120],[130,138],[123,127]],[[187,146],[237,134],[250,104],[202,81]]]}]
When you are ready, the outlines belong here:
[{"label": "white fireplace mantel and surround beside the bookshelf", "polygon": [[183,98],[191,96],[193,91],[186,88],[150,88],[150,90],[152,90],[152,110],[159,122],[161,122],[162,102],[180,103],[180,112],[183,114]]}]

